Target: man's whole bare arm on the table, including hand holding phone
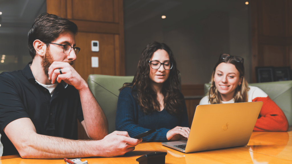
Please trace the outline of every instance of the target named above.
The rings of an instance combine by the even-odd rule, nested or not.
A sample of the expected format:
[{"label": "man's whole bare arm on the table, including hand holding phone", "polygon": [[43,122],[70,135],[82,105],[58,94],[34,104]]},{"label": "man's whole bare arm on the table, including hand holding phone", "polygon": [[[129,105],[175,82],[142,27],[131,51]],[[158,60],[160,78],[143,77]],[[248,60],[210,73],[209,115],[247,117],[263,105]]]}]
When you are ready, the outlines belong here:
[{"label": "man's whole bare arm on the table, including hand holding phone", "polygon": [[22,158],[113,157],[133,151],[141,140],[127,132],[112,132],[102,140],[71,140],[40,135],[29,118],[12,121],[3,129]]}]

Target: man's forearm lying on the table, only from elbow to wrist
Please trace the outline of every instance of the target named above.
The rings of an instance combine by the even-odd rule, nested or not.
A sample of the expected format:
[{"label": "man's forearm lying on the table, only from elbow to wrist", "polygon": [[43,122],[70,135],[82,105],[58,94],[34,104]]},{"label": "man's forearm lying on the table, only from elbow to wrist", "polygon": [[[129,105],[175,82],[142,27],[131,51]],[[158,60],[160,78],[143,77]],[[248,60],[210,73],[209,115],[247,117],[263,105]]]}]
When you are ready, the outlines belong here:
[{"label": "man's forearm lying on the table, only from elbow to wrist", "polygon": [[[21,142],[21,140],[20,140]],[[22,158],[81,158],[100,156],[95,150],[94,140],[70,140],[60,137],[32,134],[28,140],[21,143],[18,152]]]}]

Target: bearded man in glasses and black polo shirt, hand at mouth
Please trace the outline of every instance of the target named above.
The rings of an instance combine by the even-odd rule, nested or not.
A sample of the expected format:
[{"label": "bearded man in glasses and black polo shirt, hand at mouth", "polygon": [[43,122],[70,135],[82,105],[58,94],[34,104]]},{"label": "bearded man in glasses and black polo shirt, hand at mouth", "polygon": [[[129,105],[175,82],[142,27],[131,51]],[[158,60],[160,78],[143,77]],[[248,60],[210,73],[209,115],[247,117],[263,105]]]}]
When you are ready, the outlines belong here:
[{"label": "bearded man in glasses and black polo shirt, hand at mouth", "polygon": [[[41,14],[28,32],[32,62],[0,74],[0,132],[3,156],[77,158],[120,156],[141,139],[108,134],[104,112],[86,81],[71,66],[77,25]],[[77,119],[92,140],[77,139]]]}]

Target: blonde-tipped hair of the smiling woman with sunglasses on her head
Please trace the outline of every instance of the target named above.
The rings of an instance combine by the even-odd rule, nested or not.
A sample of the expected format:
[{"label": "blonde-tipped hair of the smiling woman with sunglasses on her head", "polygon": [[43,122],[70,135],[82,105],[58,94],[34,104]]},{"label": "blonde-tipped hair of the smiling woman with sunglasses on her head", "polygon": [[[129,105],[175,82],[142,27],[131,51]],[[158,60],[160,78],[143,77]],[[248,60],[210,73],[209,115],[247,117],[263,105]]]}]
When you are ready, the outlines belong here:
[{"label": "blonde-tipped hair of the smiling woman with sunglasses on her head", "polygon": [[235,88],[235,92],[234,92],[234,102],[247,102],[248,101],[248,96],[247,96],[247,92],[249,90],[248,87],[248,83],[244,77],[244,66],[241,62],[238,62],[236,60],[234,60],[233,56],[224,58],[224,59],[220,59],[214,67],[213,70],[213,74],[211,77],[211,86],[210,86],[210,90],[209,90],[209,102],[210,104],[221,104],[222,103],[222,99],[221,99],[221,95],[220,92],[217,90],[216,86],[215,86],[215,81],[214,81],[214,76],[215,76],[215,70],[216,67],[220,64],[220,63],[230,63],[233,64],[235,66],[235,68],[239,71],[239,77],[242,78],[241,79],[241,84],[237,86],[237,88]]}]

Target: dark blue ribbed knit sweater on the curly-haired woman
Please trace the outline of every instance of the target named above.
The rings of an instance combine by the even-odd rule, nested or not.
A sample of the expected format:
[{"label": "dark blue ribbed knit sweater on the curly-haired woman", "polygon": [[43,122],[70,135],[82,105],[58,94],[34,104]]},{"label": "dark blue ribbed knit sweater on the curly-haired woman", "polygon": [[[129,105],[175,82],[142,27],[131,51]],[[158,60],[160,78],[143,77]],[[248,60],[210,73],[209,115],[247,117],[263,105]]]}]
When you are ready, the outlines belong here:
[{"label": "dark blue ribbed knit sweater on the curly-haired woman", "polygon": [[[181,94],[183,97],[183,94]],[[116,130],[127,131],[130,137],[134,137],[150,129],[156,129],[156,132],[143,137],[147,142],[165,142],[168,141],[166,133],[176,126],[189,127],[187,117],[187,107],[185,100],[182,102],[183,111],[178,117],[169,114],[165,109],[154,111],[151,114],[145,114],[140,110],[140,105],[131,93],[131,88],[126,87],[121,90],[117,105]]]}]

